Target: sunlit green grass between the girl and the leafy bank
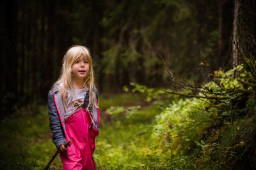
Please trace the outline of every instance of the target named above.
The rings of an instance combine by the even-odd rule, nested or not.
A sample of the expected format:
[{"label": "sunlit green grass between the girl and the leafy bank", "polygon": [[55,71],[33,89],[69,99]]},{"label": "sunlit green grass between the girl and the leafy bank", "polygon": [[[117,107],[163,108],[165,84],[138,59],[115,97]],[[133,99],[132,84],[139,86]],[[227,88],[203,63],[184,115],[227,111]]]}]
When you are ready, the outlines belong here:
[{"label": "sunlit green grass between the girl and the leafy bank", "polygon": [[99,169],[152,169],[152,140],[147,125],[157,113],[155,106],[147,106],[130,118],[120,115],[102,127],[94,154]]}]

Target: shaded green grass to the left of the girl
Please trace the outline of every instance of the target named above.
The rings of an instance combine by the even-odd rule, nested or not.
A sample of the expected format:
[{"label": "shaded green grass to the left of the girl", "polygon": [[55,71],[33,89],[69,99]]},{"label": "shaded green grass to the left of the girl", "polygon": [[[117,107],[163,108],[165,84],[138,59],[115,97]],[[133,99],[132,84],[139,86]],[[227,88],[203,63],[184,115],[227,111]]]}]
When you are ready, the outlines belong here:
[{"label": "shaded green grass to the left of the girl", "polygon": [[[22,113],[1,120],[0,169],[43,169],[56,152],[47,114],[44,106],[38,113]],[[60,159],[54,160],[51,167],[61,167]]]}]

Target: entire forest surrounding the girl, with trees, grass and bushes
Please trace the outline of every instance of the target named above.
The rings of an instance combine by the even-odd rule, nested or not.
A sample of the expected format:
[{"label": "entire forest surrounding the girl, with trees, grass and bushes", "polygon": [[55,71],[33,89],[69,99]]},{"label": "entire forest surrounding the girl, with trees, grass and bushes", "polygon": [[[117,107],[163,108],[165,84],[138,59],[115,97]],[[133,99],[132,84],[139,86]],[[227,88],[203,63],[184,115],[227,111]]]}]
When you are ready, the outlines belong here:
[{"label": "entire forest surrounding the girl, with trees, grass and bushes", "polygon": [[255,169],[256,1],[0,4],[0,169],[56,152],[47,94],[72,45],[93,59],[99,169]]}]

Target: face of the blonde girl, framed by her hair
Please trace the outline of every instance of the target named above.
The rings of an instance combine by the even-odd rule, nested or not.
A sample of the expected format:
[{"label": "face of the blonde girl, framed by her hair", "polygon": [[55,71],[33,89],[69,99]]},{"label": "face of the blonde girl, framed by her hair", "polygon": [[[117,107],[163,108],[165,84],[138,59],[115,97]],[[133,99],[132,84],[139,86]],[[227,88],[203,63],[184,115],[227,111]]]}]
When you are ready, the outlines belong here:
[{"label": "face of the blonde girl, framed by her hair", "polygon": [[90,71],[90,64],[88,63],[86,57],[80,57],[79,60],[76,60],[73,66],[71,67],[74,79],[84,80]]}]

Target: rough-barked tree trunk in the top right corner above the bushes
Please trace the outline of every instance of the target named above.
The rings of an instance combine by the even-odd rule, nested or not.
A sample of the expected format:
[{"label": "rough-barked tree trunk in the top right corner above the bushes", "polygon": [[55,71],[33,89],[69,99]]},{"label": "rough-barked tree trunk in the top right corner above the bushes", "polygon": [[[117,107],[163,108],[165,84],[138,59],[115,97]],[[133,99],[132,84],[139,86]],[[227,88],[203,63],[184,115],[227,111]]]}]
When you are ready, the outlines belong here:
[{"label": "rough-barked tree trunk in the top right corner above the bushes", "polygon": [[[239,64],[241,57],[255,55],[255,1],[236,0],[234,1],[234,22],[232,39],[233,67]],[[253,22],[254,21],[254,22]]]}]

